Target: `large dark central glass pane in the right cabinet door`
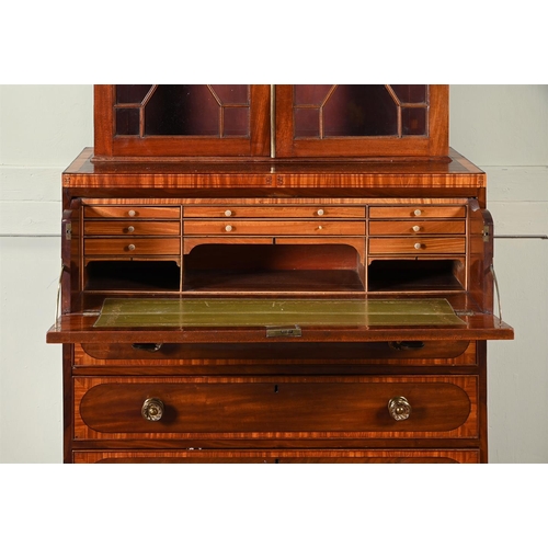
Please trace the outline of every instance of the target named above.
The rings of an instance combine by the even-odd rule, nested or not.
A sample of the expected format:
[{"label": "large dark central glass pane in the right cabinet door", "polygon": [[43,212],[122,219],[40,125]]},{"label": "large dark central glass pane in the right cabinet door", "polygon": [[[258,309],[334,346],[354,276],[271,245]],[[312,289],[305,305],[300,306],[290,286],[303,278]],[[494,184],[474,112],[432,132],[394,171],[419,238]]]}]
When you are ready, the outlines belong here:
[{"label": "large dark central glass pane in the right cabinet door", "polygon": [[338,85],[323,109],[323,135],[398,135],[398,107],[384,84]]}]

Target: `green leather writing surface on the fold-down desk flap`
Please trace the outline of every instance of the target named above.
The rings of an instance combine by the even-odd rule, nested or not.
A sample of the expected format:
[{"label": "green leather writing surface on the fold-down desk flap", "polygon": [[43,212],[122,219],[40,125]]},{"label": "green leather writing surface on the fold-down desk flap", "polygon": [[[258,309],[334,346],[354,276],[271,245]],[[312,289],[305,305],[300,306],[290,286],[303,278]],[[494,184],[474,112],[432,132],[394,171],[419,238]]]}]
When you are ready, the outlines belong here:
[{"label": "green leather writing surface on the fold-down desk flap", "polygon": [[446,299],[105,299],[96,328],[459,326]]}]

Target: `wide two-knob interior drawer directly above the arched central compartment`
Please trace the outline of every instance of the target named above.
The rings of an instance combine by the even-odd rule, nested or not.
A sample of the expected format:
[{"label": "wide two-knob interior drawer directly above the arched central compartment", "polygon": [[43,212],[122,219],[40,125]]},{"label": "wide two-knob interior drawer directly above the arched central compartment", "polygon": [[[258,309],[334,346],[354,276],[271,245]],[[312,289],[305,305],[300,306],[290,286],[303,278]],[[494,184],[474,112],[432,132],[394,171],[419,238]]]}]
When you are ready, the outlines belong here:
[{"label": "wide two-knob interior drawer directly above the arched central compartment", "polygon": [[307,221],[307,220],[187,220],[187,236],[365,236],[365,221]]}]

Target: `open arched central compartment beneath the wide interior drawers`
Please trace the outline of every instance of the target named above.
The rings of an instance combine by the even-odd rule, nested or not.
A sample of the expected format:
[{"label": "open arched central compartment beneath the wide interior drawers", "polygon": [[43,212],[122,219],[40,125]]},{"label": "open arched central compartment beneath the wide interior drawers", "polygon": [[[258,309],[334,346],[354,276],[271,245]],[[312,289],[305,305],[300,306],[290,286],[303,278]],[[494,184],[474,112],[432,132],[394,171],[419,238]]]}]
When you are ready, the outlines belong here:
[{"label": "open arched central compartment beneath the wide interior drawers", "polygon": [[199,243],[184,256],[183,292],[302,295],[364,290],[363,255],[352,244]]}]

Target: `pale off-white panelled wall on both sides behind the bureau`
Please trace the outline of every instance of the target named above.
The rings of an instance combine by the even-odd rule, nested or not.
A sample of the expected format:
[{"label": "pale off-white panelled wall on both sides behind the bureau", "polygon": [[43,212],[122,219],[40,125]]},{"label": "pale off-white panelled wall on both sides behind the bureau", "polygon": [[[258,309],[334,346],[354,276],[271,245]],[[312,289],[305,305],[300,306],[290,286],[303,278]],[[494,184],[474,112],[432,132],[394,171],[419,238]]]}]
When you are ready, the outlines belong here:
[{"label": "pale off-white panelled wall on both sides behind the bureau", "polygon": [[[91,85],[0,85],[0,463],[62,460],[60,174],[93,145]],[[548,233],[548,85],[452,85],[450,145],[488,173],[498,235]],[[548,240],[496,239],[491,463],[548,463]]]}]

